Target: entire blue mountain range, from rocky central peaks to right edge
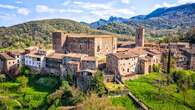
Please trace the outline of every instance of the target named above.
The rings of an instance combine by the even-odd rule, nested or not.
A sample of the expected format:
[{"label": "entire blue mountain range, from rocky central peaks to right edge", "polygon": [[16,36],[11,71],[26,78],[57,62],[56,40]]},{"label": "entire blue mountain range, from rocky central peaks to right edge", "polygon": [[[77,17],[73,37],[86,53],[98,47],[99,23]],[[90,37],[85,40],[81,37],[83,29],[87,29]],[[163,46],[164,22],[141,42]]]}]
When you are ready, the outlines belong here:
[{"label": "entire blue mountain range, from rocky central peaks to right edge", "polygon": [[[116,26],[113,23],[119,23],[120,28],[118,28],[118,25]],[[124,24],[124,27],[121,27],[121,24]],[[178,29],[185,30],[191,28],[194,26],[194,24],[195,3],[192,3],[170,8],[159,8],[149,13],[148,15],[138,15],[129,19],[119,17],[110,17],[108,20],[101,19],[97,22],[91,23],[90,26],[92,28],[110,31],[105,27],[110,27],[112,25],[110,28],[118,28],[118,30],[122,30],[120,33],[128,34],[128,30],[123,30],[123,28],[127,28],[127,25],[132,28],[136,28],[138,25],[143,25],[149,30],[173,30],[174,32]]]}]

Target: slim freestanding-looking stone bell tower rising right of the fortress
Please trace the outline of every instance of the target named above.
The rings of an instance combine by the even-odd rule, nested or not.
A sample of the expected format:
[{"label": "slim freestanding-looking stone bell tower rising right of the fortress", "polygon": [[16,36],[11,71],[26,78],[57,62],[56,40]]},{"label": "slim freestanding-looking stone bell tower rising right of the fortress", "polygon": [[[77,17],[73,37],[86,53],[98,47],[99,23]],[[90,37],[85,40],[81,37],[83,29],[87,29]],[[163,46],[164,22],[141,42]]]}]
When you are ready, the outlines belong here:
[{"label": "slim freestanding-looking stone bell tower rising right of the fortress", "polygon": [[145,30],[143,27],[139,27],[138,29],[136,29],[136,47],[144,47],[144,31]]}]

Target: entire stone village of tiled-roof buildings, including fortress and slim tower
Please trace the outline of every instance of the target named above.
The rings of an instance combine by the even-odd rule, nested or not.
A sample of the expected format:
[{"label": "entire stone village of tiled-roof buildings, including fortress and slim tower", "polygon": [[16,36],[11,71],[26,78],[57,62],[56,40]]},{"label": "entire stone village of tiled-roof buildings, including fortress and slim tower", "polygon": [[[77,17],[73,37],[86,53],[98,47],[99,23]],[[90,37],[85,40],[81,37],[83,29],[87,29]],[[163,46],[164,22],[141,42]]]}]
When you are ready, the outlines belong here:
[{"label": "entire stone village of tiled-roof buildings, including fortress and slim tower", "polygon": [[195,70],[195,45],[178,43],[144,43],[144,28],[136,30],[135,43],[118,42],[114,35],[52,33],[52,50],[29,47],[24,52],[0,53],[0,72],[17,75],[27,66],[40,73],[65,76],[71,74],[80,88],[86,88],[101,70],[104,80],[129,80],[164,65],[163,56],[176,59],[176,67]]}]

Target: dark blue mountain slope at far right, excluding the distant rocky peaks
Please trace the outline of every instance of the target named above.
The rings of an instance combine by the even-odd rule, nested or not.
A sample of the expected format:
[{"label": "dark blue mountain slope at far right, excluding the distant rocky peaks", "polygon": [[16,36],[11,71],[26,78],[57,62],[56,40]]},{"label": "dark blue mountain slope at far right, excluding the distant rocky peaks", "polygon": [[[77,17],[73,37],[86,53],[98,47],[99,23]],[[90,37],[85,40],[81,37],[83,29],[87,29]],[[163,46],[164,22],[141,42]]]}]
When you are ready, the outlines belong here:
[{"label": "dark blue mountain slope at far right, excluding the distant rocky peaks", "polygon": [[195,3],[171,8],[159,8],[141,19],[130,19],[155,29],[189,28],[195,24]]}]

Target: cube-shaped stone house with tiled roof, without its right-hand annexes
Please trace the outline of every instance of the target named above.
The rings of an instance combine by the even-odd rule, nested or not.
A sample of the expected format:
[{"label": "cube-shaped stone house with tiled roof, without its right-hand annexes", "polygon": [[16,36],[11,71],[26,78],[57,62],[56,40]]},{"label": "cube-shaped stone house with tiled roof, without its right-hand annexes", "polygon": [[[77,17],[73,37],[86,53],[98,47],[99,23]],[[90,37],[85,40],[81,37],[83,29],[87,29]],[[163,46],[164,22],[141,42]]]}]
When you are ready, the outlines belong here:
[{"label": "cube-shaped stone house with tiled roof, without its right-hand annexes", "polygon": [[107,71],[114,73],[119,79],[139,73],[139,57],[141,56],[144,56],[144,53],[132,51],[109,54],[107,55]]}]

